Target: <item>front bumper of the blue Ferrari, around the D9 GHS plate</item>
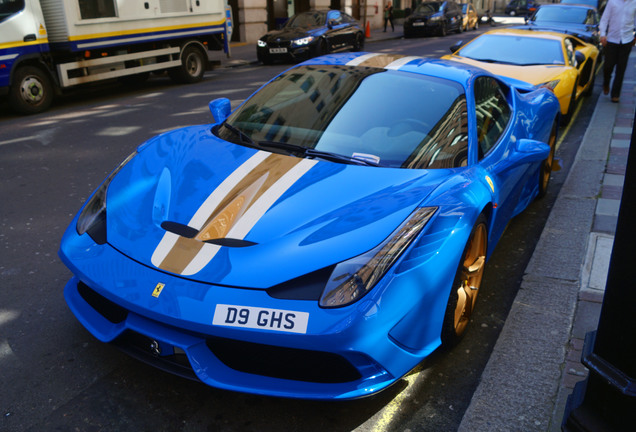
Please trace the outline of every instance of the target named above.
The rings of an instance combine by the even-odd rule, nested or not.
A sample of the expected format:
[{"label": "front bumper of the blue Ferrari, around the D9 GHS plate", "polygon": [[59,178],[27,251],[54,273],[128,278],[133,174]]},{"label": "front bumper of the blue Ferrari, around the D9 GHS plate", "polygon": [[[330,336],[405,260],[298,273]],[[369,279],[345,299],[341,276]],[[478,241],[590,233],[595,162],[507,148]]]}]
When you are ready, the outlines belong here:
[{"label": "front bumper of the blue Ferrari, around the D9 GHS plate", "polygon": [[[470,224],[435,231],[358,302],[336,309],[263,290],[187,280],[66,231],[75,275],[65,298],[99,340],[210,386],[268,396],[352,399],[378,392],[440,345],[441,323]],[[465,225],[465,226],[462,226]],[[445,253],[439,253],[444,246]],[[157,295],[157,287],[163,290]],[[302,333],[216,325],[218,305],[307,314]]]}]

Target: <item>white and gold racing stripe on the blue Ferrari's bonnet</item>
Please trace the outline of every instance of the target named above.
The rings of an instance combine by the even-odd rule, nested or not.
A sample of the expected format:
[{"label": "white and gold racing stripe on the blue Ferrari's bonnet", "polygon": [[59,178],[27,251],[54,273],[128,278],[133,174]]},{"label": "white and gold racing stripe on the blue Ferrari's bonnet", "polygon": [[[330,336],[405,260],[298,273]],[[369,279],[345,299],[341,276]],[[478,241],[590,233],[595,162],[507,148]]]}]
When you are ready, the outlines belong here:
[{"label": "white and gold racing stripe on the blue Ferrari's bonnet", "polygon": [[153,265],[183,275],[198,273],[221,248],[206,240],[244,239],[315,164],[311,159],[257,152],[212,191],[195,212],[188,223],[199,230],[194,238],[165,233],[152,255]]}]

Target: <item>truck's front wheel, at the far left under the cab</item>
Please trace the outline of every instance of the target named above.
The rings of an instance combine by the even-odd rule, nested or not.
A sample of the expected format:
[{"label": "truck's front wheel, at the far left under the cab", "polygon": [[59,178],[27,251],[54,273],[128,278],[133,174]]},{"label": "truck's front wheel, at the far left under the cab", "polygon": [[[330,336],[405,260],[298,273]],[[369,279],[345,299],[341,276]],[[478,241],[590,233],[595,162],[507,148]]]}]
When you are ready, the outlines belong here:
[{"label": "truck's front wheel, at the far left under the cab", "polygon": [[24,66],[15,71],[8,96],[9,104],[15,111],[36,114],[51,106],[53,85],[42,69]]}]

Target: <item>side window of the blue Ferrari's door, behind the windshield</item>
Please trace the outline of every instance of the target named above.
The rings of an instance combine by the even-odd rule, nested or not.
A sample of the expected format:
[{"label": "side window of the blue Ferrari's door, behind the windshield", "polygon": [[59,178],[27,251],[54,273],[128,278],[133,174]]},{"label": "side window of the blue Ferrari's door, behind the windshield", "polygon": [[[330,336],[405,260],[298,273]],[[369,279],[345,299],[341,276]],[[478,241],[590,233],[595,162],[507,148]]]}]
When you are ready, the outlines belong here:
[{"label": "side window of the blue Ferrari's door, behind the windshield", "polygon": [[510,120],[510,106],[494,78],[479,77],[475,80],[475,108],[481,159],[497,144]]}]

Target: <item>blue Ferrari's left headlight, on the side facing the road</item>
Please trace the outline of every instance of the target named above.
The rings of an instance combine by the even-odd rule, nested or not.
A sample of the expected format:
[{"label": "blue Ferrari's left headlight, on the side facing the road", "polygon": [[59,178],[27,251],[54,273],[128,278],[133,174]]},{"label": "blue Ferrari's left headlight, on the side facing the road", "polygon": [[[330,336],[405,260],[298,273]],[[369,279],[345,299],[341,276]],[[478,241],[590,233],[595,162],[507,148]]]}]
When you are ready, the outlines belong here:
[{"label": "blue Ferrari's left headlight, on the side facing the road", "polygon": [[104,180],[93,196],[84,205],[77,218],[75,229],[79,235],[88,233],[97,244],[106,243],[106,192],[108,186],[117,173],[126,165],[137,152],[131,153],[115,170]]}]

